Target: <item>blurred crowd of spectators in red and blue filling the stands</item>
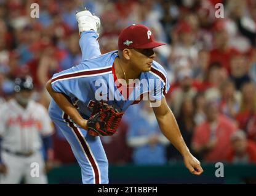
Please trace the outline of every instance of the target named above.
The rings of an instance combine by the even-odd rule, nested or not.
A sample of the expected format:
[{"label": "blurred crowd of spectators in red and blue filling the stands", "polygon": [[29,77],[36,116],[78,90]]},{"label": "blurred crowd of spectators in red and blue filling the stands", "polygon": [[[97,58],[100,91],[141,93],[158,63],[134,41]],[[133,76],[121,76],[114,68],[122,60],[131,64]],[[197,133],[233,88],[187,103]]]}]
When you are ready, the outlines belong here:
[{"label": "blurred crowd of spectators in red and blue filling the stands", "polygon": [[[39,18],[30,17],[33,2]],[[215,16],[217,3],[223,18]],[[49,106],[47,80],[81,61],[75,13],[82,6],[100,16],[102,53],[116,50],[119,32],[134,23],[167,43],[155,49],[155,60],[167,70],[167,103],[199,160],[256,163],[255,0],[1,0],[1,105],[13,96],[12,80],[30,75],[33,99]],[[60,130],[52,137],[55,162],[75,162]],[[102,142],[110,164],[182,160],[148,102],[130,107],[118,134]]]}]

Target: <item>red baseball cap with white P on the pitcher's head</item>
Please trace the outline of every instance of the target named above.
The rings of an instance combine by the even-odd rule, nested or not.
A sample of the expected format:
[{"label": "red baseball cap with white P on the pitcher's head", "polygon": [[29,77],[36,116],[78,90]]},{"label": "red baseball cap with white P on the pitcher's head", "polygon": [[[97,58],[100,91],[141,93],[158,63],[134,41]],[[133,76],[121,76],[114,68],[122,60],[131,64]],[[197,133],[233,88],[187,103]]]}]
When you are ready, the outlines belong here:
[{"label": "red baseball cap with white P on the pitcher's head", "polygon": [[130,25],[123,29],[118,37],[118,49],[124,48],[156,48],[165,43],[156,42],[149,28],[145,25]]}]

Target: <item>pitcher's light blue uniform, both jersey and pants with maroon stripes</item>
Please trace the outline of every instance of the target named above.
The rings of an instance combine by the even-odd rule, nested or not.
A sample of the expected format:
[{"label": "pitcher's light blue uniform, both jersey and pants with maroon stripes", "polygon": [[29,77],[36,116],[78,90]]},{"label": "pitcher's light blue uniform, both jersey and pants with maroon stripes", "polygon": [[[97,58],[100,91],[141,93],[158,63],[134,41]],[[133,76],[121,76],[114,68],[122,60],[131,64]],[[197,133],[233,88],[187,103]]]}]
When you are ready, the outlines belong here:
[{"label": "pitcher's light blue uniform, both jersey and pants with maroon stripes", "polygon": [[[101,55],[97,38],[98,34],[94,31],[82,32],[79,40],[81,64],[52,77],[54,91],[70,97],[83,118],[89,118],[95,102],[100,99],[108,99],[108,104],[125,111],[129,105],[137,104],[148,94],[154,100],[164,97],[169,90],[169,81],[165,70],[155,61],[150,72],[140,74],[139,82],[129,96],[121,93],[114,82],[114,59],[118,52]],[[50,101],[49,114],[70,143],[81,167],[82,183],[108,183],[108,160],[100,137],[89,135],[87,130],[76,125],[53,99]]]}]

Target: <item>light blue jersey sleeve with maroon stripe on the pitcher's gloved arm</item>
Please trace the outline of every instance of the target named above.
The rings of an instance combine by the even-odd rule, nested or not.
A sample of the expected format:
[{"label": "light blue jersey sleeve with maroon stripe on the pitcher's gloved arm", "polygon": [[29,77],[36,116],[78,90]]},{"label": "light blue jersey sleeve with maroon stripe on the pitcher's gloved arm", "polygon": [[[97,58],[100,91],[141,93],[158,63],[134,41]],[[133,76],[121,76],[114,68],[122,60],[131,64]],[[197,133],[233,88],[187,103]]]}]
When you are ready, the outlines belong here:
[{"label": "light blue jersey sleeve with maroon stripe on the pitcher's gloved arm", "polygon": [[87,69],[82,64],[79,64],[54,74],[52,88],[56,92],[61,92],[69,97],[75,96],[83,101],[90,89],[90,77],[87,77],[87,72]]}]

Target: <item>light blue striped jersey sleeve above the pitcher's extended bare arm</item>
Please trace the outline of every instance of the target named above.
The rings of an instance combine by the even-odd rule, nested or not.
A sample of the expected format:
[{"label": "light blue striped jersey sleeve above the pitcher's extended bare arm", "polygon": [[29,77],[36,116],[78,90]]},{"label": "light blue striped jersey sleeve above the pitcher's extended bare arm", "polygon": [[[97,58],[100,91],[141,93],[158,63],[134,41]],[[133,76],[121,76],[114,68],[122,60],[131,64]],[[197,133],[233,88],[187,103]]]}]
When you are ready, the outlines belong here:
[{"label": "light blue striped jersey sleeve above the pitcher's extended bare arm", "polygon": [[166,96],[170,89],[170,83],[167,78],[166,70],[157,62],[154,62],[154,65],[156,66],[152,66],[150,70],[151,74],[154,76],[154,78],[150,79],[150,99],[158,101]]}]

